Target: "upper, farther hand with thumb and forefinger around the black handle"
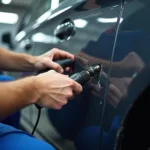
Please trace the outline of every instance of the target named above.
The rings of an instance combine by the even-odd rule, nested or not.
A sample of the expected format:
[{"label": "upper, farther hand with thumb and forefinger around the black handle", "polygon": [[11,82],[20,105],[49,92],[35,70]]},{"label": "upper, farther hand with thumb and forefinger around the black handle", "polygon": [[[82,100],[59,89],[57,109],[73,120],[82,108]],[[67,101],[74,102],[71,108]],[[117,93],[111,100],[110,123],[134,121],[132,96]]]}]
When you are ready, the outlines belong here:
[{"label": "upper, farther hand with thumb and forefinger around the black handle", "polygon": [[[74,60],[74,55],[54,48],[41,56],[36,56],[36,61],[34,64],[37,70],[44,70],[46,68],[50,68],[59,73],[63,73],[64,72],[63,68],[54,61],[68,58]],[[70,68],[67,67],[66,71],[69,70]]]}]

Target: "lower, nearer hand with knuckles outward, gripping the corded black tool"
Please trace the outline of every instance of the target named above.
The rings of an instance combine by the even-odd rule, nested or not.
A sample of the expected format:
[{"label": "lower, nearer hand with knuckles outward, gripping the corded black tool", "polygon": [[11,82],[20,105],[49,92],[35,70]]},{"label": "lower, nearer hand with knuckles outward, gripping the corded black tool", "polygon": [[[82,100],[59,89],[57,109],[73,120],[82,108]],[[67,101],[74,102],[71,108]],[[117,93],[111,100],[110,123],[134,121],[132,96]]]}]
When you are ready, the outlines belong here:
[{"label": "lower, nearer hand with knuckles outward, gripping the corded black tool", "polygon": [[82,91],[80,84],[54,70],[37,75],[35,87],[39,95],[37,104],[52,109],[61,109],[69,99]]}]

